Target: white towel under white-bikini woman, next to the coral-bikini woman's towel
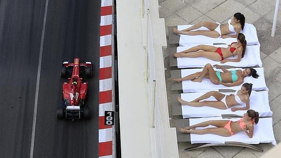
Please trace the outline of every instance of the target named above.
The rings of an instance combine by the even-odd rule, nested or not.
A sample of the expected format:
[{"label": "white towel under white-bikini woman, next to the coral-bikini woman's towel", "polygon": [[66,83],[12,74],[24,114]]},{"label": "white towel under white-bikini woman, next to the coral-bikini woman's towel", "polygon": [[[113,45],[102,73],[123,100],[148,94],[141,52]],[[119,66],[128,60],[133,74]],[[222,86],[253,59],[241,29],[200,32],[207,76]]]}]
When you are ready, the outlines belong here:
[{"label": "white towel under white-bikini woman, next to the coral-bikini woman's towel", "polygon": [[[205,92],[198,92],[198,93],[182,93],[181,98],[185,101],[193,101],[194,99],[202,96]],[[225,95],[229,95],[231,93],[223,93]],[[204,99],[201,101],[217,101],[215,97],[211,96],[208,99]],[[236,108],[245,107],[246,104],[240,104],[237,106],[233,106]],[[221,116],[222,114],[236,114],[239,116],[243,116],[247,110],[239,110],[236,112],[232,112],[231,108],[221,110],[212,107],[192,107],[192,106],[181,106],[182,109],[182,116],[183,118],[191,118],[191,117],[209,117],[209,116]],[[253,109],[259,112],[259,116],[272,116],[272,111],[269,107],[268,102],[268,91],[252,91],[250,96],[250,109]]]}]

